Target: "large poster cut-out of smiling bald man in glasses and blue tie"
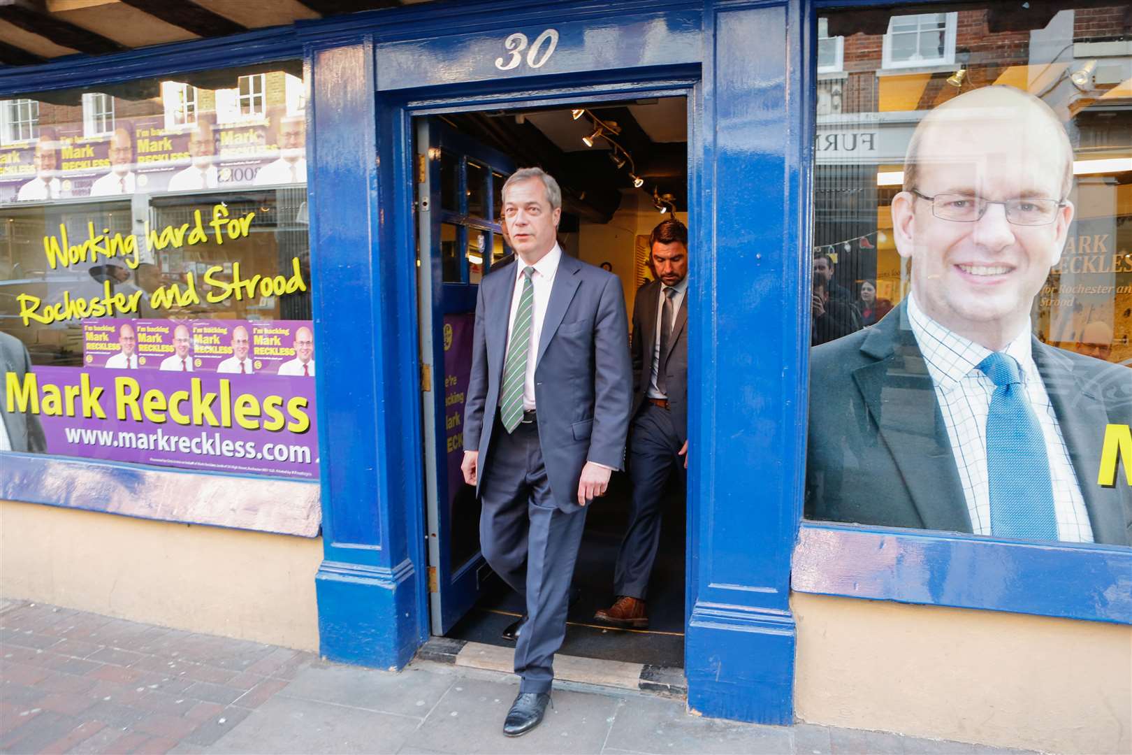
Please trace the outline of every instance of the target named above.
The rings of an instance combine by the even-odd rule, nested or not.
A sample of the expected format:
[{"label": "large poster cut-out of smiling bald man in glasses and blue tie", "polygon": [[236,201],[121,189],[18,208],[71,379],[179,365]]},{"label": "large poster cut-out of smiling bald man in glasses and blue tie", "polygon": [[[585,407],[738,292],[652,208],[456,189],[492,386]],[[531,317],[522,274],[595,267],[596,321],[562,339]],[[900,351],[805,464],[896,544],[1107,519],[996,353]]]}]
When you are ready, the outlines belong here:
[{"label": "large poster cut-out of smiling bald man in glasses and blue tie", "polygon": [[1073,152],[1037,97],[990,86],[917,127],[893,198],[911,293],[811,358],[806,514],[1022,540],[1130,544],[1132,494],[1097,484],[1132,422],[1125,368],[1040,343]]}]

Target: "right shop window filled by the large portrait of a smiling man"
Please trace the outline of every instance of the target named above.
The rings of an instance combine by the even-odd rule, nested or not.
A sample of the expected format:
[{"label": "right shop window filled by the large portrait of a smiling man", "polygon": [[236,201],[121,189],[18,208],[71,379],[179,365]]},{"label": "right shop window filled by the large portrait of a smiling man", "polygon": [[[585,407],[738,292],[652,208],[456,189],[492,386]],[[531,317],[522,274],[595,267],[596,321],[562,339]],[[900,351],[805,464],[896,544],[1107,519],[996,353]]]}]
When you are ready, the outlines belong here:
[{"label": "right shop window filled by the large portrait of a smiling man", "polygon": [[1130,29],[1052,11],[820,19],[809,518],[1132,544]]}]

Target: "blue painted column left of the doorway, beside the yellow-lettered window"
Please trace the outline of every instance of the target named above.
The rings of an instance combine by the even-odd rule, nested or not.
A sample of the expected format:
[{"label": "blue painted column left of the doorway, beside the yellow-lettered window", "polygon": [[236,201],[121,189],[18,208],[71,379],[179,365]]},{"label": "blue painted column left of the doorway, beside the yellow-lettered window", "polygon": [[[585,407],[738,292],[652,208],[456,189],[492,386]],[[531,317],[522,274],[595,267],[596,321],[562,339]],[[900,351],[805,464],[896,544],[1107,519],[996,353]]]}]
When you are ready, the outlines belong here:
[{"label": "blue painted column left of the doorway, beside the yellow-lettered window", "polygon": [[[310,247],[325,558],[321,654],[404,666],[426,636],[411,248],[383,243],[372,44],[308,52]],[[388,235],[388,234],[386,234]],[[402,259],[401,257],[405,257]]]}]

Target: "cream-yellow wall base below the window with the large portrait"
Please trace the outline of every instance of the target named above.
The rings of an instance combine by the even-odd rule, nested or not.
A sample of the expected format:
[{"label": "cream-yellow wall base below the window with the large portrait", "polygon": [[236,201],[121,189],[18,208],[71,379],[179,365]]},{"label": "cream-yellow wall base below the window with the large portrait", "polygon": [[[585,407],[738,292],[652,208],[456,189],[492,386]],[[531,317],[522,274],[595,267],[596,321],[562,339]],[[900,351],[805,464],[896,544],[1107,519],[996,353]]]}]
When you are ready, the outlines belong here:
[{"label": "cream-yellow wall base below the window with the large portrait", "polygon": [[1132,752],[1132,627],[803,593],[791,604],[804,721]]}]

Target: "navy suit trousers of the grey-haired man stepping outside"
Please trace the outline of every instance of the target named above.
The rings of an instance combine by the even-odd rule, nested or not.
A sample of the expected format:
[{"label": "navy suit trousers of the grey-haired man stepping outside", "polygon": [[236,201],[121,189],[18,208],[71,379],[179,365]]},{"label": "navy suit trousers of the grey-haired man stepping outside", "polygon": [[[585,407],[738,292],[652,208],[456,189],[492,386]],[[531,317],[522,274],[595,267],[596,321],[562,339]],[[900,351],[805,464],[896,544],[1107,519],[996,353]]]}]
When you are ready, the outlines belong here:
[{"label": "navy suit trousers of the grey-haired man stepping outside", "polygon": [[489,454],[480,471],[480,546],[495,573],[526,602],[515,643],[520,692],[550,692],[586,509],[567,514],[555,506],[537,422],[507,432],[497,413]]}]

